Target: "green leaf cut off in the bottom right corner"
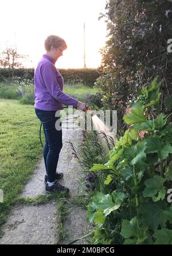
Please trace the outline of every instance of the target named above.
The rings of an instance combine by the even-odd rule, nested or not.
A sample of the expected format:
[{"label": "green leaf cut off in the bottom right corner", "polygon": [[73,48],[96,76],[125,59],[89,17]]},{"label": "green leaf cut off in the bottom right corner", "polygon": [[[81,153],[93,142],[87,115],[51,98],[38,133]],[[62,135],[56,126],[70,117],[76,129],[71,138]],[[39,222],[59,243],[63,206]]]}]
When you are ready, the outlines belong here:
[{"label": "green leaf cut off in the bottom right corner", "polygon": [[172,244],[172,230],[162,228],[154,233],[155,244]]}]

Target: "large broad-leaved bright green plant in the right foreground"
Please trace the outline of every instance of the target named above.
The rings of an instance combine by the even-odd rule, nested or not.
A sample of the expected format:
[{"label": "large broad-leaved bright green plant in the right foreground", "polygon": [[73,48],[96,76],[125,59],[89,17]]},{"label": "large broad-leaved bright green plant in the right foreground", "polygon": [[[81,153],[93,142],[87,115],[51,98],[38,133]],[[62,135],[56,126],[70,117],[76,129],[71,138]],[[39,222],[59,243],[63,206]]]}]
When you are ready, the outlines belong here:
[{"label": "large broad-leaved bright green plant in the right foreground", "polygon": [[172,185],[172,127],[169,116],[150,115],[158,106],[160,85],[155,77],[142,88],[124,116],[130,128],[110,150],[108,162],[90,169],[104,181],[88,205],[94,244],[171,244],[172,207],[166,194]]}]

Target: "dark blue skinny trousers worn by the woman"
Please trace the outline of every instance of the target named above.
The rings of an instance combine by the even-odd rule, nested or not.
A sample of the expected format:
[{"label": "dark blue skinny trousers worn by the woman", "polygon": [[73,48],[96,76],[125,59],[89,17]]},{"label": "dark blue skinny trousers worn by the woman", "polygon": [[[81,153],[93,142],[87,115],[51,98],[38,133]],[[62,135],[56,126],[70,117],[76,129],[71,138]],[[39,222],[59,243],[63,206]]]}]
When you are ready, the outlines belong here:
[{"label": "dark blue skinny trousers worn by the woman", "polygon": [[[55,117],[56,111],[38,110],[35,108],[37,117],[40,119],[45,135],[44,162],[48,181],[56,180],[56,168],[58,157],[62,148],[62,130],[56,130],[55,123],[60,117]],[[58,120],[59,122],[60,120]],[[61,126],[61,121],[60,121]]]}]

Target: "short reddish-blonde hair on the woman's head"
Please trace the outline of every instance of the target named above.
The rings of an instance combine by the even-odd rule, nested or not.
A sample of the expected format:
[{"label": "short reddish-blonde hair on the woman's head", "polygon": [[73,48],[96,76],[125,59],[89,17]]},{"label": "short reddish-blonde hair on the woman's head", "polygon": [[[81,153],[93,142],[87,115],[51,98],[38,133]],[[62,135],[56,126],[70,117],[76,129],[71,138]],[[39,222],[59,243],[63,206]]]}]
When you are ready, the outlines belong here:
[{"label": "short reddish-blonde hair on the woman's head", "polygon": [[54,48],[63,47],[64,50],[67,48],[67,43],[60,36],[50,35],[45,39],[45,50],[50,51],[50,48],[53,46]]}]

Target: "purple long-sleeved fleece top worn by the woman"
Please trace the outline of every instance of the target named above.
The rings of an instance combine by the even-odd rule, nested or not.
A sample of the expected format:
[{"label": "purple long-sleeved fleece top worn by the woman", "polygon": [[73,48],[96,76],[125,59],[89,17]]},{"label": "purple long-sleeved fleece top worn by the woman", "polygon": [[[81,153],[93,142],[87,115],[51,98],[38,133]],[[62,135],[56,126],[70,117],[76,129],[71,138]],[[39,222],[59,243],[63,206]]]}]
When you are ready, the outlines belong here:
[{"label": "purple long-sleeved fleece top worn by the woman", "polygon": [[44,54],[34,71],[34,107],[38,110],[62,110],[62,104],[75,108],[79,102],[62,92],[64,81],[55,63],[56,60]]}]

